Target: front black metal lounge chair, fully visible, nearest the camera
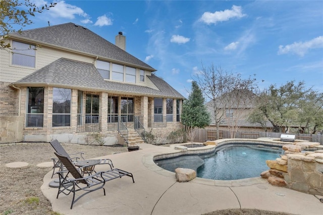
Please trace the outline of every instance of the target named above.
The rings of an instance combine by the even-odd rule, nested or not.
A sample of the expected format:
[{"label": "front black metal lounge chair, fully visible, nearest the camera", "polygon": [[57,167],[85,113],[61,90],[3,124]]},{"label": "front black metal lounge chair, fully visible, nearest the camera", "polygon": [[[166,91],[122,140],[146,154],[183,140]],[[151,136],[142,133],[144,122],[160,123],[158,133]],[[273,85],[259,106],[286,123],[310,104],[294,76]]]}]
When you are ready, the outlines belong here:
[{"label": "front black metal lounge chair, fully visible, nearest the camera", "polygon": [[[73,192],[73,199],[71,203],[71,209],[73,208],[73,204],[79,200],[82,196],[93,192],[98,189],[103,189],[103,194],[105,195],[104,184],[106,181],[110,181],[116,178],[121,178],[122,176],[129,176],[132,178],[133,183],[135,183],[133,179],[132,173],[120,170],[120,169],[112,169],[107,171],[102,171],[95,173],[93,175],[83,177],[80,170],[85,169],[86,166],[76,168],[71,160],[66,157],[55,153],[55,155],[59,158],[60,162],[64,164],[66,171],[59,171],[60,177],[60,186],[59,191],[57,193],[57,197],[59,197],[60,193],[64,193],[65,195],[69,195]],[[74,178],[69,178],[69,174],[71,174]],[[75,199],[75,193],[77,191],[86,191]]]}]

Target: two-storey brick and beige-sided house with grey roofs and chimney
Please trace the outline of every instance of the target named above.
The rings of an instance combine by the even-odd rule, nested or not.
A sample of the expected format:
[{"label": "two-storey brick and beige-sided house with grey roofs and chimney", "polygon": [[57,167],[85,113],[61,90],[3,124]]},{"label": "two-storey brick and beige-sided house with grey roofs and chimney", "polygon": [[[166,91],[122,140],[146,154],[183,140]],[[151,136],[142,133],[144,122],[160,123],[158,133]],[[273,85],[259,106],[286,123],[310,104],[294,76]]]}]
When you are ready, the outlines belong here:
[{"label": "two-storey brick and beige-sided house with grey roofs and chimney", "polygon": [[184,97],[126,52],[122,32],[114,45],[66,23],[8,40],[12,53],[0,50],[0,142],[90,144],[96,134],[113,145],[150,131],[166,139],[181,127]]}]

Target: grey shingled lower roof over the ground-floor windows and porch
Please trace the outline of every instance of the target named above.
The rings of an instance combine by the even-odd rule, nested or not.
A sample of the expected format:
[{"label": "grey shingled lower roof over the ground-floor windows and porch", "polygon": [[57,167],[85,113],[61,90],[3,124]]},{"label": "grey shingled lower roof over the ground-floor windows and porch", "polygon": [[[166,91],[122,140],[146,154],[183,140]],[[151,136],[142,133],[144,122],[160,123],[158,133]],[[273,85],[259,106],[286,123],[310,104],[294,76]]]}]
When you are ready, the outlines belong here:
[{"label": "grey shingled lower roof over the ground-floor windows and porch", "polygon": [[164,80],[154,75],[146,77],[153,82],[159,91],[134,84],[104,81],[94,64],[60,58],[14,84],[29,87],[49,85],[80,90],[184,99],[180,93]]}]

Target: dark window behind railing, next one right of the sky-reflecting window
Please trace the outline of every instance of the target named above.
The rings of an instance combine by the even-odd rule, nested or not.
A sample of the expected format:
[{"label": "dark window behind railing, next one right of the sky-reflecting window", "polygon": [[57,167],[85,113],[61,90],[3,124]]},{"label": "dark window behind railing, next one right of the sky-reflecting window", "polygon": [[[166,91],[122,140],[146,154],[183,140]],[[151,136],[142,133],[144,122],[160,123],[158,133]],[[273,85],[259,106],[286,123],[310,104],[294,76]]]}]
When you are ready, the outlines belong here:
[{"label": "dark window behind railing, next one right of the sky-reflecting window", "polygon": [[99,104],[100,98],[98,95],[86,95],[85,123],[99,123]]}]

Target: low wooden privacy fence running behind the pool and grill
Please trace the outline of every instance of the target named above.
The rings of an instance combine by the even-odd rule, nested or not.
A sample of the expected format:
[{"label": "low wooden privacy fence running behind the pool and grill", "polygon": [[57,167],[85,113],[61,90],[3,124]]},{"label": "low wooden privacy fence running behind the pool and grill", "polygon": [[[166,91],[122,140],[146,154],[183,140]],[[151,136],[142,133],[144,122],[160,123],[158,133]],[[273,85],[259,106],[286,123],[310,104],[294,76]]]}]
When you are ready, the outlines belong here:
[{"label": "low wooden privacy fence running behind the pool and grill", "polygon": [[[236,132],[235,138],[248,138],[256,139],[259,137],[272,137],[280,138],[281,134],[286,133],[274,133],[274,132],[261,132],[261,131],[238,131]],[[296,139],[304,139],[310,142],[319,142],[323,145],[323,135],[322,134],[307,134],[307,133],[288,133],[294,134]],[[219,130],[220,139],[231,138],[229,130]],[[198,129],[197,134],[194,138],[195,142],[205,142],[206,140],[216,140],[217,130],[214,129]]]}]

